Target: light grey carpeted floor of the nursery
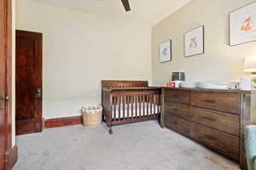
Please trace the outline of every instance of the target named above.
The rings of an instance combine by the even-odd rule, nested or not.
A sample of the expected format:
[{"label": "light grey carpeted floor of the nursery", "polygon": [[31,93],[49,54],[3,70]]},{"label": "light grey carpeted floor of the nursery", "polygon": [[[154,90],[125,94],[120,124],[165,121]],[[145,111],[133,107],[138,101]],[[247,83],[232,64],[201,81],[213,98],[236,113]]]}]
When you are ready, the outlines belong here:
[{"label": "light grey carpeted floor of the nursery", "polygon": [[17,137],[14,170],[238,170],[238,165],[157,122],[46,129]]}]

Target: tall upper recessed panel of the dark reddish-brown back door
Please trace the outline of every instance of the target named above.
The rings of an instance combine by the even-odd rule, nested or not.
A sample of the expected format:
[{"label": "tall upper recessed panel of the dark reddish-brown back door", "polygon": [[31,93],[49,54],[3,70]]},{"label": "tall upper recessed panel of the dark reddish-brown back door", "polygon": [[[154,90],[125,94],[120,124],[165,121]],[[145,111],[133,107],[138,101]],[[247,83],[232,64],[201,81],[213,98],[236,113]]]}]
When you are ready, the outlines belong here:
[{"label": "tall upper recessed panel of the dark reddish-brown back door", "polygon": [[19,121],[33,120],[35,105],[34,71],[35,71],[35,40],[33,38],[17,38],[16,51],[16,119]]}]

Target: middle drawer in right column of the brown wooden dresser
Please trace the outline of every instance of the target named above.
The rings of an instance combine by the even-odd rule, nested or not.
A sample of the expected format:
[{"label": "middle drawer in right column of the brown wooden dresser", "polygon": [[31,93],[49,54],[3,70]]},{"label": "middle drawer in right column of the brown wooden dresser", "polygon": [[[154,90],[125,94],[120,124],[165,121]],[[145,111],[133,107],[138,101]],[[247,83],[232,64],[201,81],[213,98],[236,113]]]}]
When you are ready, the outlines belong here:
[{"label": "middle drawer in right column of the brown wooden dresser", "polygon": [[220,111],[212,111],[191,107],[191,121],[198,122],[207,127],[213,127],[225,133],[239,136],[240,116]]}]

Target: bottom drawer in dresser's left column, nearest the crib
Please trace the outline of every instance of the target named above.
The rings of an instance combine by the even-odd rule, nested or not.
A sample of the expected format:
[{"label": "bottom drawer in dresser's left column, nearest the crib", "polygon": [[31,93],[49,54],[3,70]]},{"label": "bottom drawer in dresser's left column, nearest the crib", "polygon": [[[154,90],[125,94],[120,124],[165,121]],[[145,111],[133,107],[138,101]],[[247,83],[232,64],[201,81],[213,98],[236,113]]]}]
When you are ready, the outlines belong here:
[{"label": "bottom drawer in dresser's left column, nearest the crib", "polygon": [[185,136],[190,136],[189,122],[177,118],[177,116],[165,115],[165,127]]}]

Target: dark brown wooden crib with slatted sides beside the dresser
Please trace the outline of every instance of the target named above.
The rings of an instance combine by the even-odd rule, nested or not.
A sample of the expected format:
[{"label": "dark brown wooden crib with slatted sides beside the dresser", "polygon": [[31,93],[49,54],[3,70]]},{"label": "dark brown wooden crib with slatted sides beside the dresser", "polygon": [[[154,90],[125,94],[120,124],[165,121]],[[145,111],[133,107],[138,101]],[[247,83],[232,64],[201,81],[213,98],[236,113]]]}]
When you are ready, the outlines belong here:
[{"label": "dark brown wooden crib with slatted sides beside the dresser", "polygon": [[147,81],[102,81],[103,120],[113,134],[113,126],[159,120],[161,88]]}]

